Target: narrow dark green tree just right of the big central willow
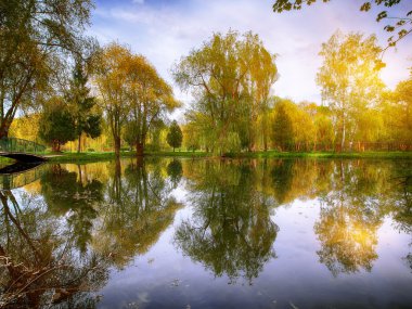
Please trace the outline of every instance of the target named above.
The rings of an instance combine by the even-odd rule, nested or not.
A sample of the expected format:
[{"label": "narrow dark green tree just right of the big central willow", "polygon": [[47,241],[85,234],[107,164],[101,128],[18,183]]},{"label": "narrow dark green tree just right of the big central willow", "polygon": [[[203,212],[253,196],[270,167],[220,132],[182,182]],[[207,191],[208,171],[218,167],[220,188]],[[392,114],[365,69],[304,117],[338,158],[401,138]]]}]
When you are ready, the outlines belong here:
[{"label": "narrow dark green tree just right of the big central willow", "polygon": [[275,114],[272,127],[272,140],[282,151],[289,147],[293,143],[292,119],[286,114],[285,106],[279,103],[274,107]]}]

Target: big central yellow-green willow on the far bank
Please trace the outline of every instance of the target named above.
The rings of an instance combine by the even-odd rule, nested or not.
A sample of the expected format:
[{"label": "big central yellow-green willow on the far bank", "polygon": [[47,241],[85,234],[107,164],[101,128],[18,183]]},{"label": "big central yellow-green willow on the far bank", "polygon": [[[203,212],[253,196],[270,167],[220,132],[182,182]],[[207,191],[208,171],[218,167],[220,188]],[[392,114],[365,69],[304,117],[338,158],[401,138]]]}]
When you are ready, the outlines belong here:
[{"label": "big central yellow-green willow on the far bank", "polygon": [[177,83],[196,99],[192,112],[207,118],[213,150],[224,152],[234,136],[255,149],[258,115],[276,80],[274,59],[257,35],[229,31],[214,34],[173,67]]}]

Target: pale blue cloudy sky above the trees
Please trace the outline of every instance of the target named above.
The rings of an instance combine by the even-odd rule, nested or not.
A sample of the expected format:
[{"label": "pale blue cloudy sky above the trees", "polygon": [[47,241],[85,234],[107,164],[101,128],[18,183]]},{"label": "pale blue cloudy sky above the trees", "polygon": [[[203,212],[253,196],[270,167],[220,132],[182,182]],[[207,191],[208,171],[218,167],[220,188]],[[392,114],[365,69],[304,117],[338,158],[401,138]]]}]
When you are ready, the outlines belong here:
[{"label": "pale blue cloudy sky above the trees", "polygon": [[[300,11],[272,12],[274,0],[96,0],[89,34],[100,43],[117,41],[134,53],[143,54],[173,87],[185,106],[191,95],[173,83],[170,68],[192,49],[202,47],[214,33],[229,29],[259,35],[263,46],[278,55],[279,80],[272,93],[294,101],[321,103],[316,75],[322,65],[318,55],[322,42],[337,30],[375,34],[386,46],[385,22],[376,23],[378,7],[368,13],[359,8],[365,0],[332,0]],[[403,16],[412,1],[403,0],[389,11],[389,16]],[[412,66],[412,34],[396,49],[384,54],[386,67],[381,76],[394,89],[409,77]]]}]

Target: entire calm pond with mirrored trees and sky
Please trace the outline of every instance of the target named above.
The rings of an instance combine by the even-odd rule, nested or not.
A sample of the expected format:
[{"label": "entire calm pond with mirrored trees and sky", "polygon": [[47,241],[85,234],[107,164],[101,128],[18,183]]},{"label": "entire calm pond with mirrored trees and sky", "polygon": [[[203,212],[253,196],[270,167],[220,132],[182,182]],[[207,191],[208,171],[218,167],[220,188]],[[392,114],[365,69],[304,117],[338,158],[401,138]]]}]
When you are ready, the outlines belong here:
[{"label": "entire calm pond with mirrored trees and sky", "polygon": [[0,307],[411,308],[412,162],[46,164],[0,191]]}]

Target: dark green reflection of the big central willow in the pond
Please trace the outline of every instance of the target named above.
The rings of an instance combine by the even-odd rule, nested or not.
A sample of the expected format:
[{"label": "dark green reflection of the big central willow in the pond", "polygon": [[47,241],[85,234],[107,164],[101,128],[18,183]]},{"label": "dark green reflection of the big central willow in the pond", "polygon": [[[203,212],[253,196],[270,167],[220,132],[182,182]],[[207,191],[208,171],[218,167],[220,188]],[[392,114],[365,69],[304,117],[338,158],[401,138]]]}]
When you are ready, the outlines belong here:
[{"label": "dark green reflection of the big central willow in the pond", "polygon": [[274,257],[273,201],[256,190],[248,165],[204,162],[198,167],[190,184],[193,217],[177,229],[175,242],[215,275],[231,281],[242,275],[252,283]]}]

